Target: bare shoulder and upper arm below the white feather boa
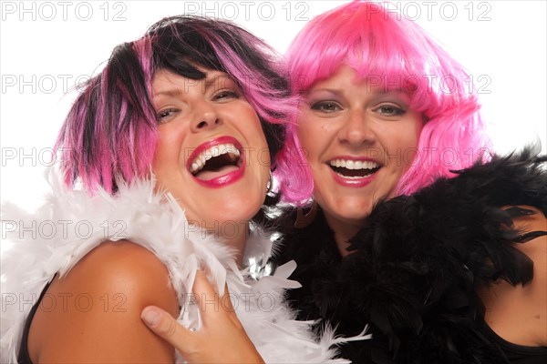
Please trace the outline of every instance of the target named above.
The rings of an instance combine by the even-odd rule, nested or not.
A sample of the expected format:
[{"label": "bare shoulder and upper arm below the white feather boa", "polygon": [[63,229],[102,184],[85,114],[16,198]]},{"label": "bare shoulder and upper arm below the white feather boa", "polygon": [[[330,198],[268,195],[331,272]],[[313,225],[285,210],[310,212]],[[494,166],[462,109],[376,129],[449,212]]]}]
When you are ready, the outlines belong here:
[{"label": "bare shoulder and upper arm below the white feather boa", "polygon": [[140,311],[148,305],[178,315],[167,268],[137,244],[102,243],[47,289],[28,336],[31,358],[57,363],[172,362],[173,348],[140,320]]}]

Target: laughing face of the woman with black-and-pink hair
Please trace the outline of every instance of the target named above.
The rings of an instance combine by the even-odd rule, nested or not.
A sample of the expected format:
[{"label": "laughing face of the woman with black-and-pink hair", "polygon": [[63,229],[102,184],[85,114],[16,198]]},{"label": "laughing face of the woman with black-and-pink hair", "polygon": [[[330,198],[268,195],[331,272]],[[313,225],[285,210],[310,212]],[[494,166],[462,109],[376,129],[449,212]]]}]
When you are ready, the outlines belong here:
[{"label": "laughing face of the woman with black-and-pink hair", "polygon": [[203,71],[202,80],[166,70],[154,76],[152,170],[191,223],[236,238],[263,204],[270,157],[260,120],[232,78]]}]

